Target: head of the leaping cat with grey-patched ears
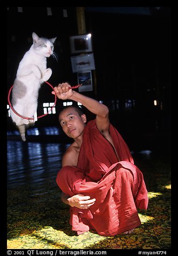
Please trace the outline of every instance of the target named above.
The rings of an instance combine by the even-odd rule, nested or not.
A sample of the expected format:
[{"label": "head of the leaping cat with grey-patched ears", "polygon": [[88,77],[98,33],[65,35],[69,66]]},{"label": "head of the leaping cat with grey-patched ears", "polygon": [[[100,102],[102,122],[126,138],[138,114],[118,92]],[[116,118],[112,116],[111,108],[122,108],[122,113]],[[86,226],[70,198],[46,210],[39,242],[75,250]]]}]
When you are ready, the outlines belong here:
[{"label": "head of the leaping cat with grey-patched ears", "polygon": [[32,33],[33,38],[33,48],[36,54],[42,55],[44,57],[49,57],[53,55],[54,52],[54,42],[55,38],[47,39],[40,38],[36,33]]}]

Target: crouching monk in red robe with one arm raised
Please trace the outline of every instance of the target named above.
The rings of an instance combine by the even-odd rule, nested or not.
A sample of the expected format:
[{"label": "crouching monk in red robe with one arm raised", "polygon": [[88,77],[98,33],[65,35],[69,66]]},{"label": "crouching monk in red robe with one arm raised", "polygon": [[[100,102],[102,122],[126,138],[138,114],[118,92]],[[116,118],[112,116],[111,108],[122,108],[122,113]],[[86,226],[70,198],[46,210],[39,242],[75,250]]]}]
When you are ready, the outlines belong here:
[{"label": "crouching monk in red robe with one arm raised", "polygon": [[86,124],[81,108],[68,106],[59,115],[64,133],[73,138],[62,158],[56,182],[61,199],[70,205],[70,224],[77,234],[95,230],[101,236],[129,234],[147,209],[148,195],[142,172],[129,148],[109,122],[109,110],[97,100],[58,84],[59,99],[80,102],[95,114]]}]

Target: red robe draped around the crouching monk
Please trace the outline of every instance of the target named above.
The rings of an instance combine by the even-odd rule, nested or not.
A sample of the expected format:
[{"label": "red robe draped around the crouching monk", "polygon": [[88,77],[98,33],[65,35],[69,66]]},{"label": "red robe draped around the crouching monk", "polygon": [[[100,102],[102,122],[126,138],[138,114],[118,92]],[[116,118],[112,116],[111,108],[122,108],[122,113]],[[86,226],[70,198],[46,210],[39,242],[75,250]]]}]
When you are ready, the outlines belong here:
[{"label": "red robe draped around the crouching monk", "polygon": [[77,234],[95,229],[101,236],[115,236],[139,226],[137,209],[147,209],[143,174],[111,124],[109,132],[119,159],[92,120],[84,129],[77,167],[65,166],[56,177],[63,193],[96,198],[90,209],[70,208],[70,224]]}]

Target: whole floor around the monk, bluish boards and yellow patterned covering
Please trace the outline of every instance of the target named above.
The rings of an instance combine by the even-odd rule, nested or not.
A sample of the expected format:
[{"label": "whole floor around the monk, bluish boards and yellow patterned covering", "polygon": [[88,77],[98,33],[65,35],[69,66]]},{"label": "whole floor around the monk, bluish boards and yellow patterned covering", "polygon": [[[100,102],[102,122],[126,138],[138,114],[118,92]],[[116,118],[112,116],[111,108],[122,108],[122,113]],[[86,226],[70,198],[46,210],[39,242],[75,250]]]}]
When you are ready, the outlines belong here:
[{"label": "whole floor around the monk, bluish boards and yellow patterned covering", "polygon": [[170,159],[154,152],[133,154],[149,191],[149,208],[132,234],[76,236],[69,207],[60,199],[56,175],[69,144],[8,140],[8,248],[170,248]]}]

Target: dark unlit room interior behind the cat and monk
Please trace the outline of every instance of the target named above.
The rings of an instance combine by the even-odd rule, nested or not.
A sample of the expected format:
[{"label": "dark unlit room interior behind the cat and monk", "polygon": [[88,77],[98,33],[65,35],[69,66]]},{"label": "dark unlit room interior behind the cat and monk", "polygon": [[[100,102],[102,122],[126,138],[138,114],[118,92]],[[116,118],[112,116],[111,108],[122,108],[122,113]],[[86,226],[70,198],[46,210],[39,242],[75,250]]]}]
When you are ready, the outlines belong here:
[{"label": "dark unlit room interior behind the cat and monk", "polygon": [[[68,17],[63,16],[63,10]],[[19,62],[32,45],[32,32],[39,37],[57,37],[54,51],[58,62],[52,57],[47,60],[53,70],[48,82],[53,86],[66,81],[77,84],[69,40],[78,34],[76,7],[51,7],[51,11],[53,15],[48,16],[46,7],[23,7],[23,12],[7,8],[7,95]],[[159,138],[158,143],[165,147],[170,144],[170,18],[170,7],[85,7],[95,70],[93,91],[83,94],[109,107],[111,123],[128,144],[144,143],[145,138],[150,143]],[[54,102],[47,84],[39,91],[39,115],[44,101]],[[58,126],[61,104],[57,100],[56,115],[38,119],[35,126]],[[93,118],[87,114],[88,119]],[[8,117],[8,130],[14,129]]]}]

